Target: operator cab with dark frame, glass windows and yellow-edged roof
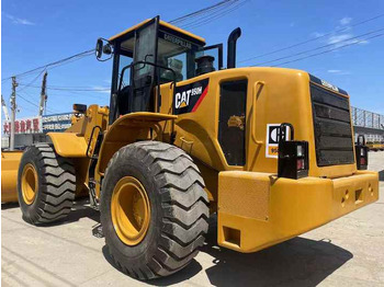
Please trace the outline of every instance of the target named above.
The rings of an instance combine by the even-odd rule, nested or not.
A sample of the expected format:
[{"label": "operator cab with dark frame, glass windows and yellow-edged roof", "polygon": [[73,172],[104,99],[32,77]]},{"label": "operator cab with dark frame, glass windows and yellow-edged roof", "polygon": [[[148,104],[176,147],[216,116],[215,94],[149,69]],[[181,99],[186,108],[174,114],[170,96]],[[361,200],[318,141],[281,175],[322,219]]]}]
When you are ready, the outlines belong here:
[{"label": "operator cab with dark frame, glass windows and yellow-edged roof", "polygon": [[97,56],[100,59],[113,50],[110,124],[127,113],[158,112],[160,84],[176,84],[223,66],[222,44],[204,47],[204,38],[159,16],[105,42],[98,41]]}]

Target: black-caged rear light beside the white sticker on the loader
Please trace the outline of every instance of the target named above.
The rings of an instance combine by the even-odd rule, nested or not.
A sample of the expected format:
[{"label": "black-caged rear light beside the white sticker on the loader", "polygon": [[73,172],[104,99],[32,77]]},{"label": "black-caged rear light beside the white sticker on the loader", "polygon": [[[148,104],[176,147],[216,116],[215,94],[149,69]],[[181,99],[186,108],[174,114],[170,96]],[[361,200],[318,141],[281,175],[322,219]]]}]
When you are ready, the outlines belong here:
[{"label": "black-caged rear light beside the white sticker on the loader", "polygon": [[[291,130],[291,140],[286,140],[287,128]],[[308,141],[293,139],[293,126],[286,123],[281,124],[278,161],[279,177],[297,180],[308,176]]]}]

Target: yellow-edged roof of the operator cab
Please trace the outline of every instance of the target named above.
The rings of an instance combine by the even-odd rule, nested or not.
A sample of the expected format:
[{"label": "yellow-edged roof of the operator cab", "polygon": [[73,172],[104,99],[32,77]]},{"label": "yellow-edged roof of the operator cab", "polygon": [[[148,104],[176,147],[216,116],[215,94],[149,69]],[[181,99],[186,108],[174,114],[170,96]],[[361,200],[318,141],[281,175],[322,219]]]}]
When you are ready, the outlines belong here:
[{"label": "yellow-edged roof of the operator cab", "polygon": [[[129,35],[133,36],[133,35],[134,35],[134,32],[135,32],[137,28],[139,28],[139,27],[143,26],[143,25],[145,25],[145,24],[148,23],[150,20],[151,20],[151,19],[147,19],[147,20],[145,20],[145,21],[143,21],[143,22],[140,22],[140,23],[138,23],[138,24],[136,24],[136,25],[134,25],[134,26],[132,26],[132,27],[129,27],[129,28],[127,28],[127,30],[125,30],[125,31],[123,31],[123,32],[121,32],[121,33],[118,33],[118,34],[116,34],[116,35],[114,35],[114,36],[112,36],[112,37],[110,37],[109,41],[113,42],[113,41],[116,41],[117,38],[121,38],[121,37],[126,38],[126,37],[128,37]],[[194,35],[194,34],[192,34],[192,33],[190,33],[190,32],[188,32],[188,31],[185,31],[185,30],[182,30],[182,28],[180,28],[180,27],[177,27],[177,26],[174,26],[174,25],[172,25],[172,24],[169,24],[169,23],[167,23],[167,22],[165,22],[165,21],[162,21],[162,20],[159,21],[159,28],[160,28],[160,30],[163,28],[163,30],[168,30],[168,31],[176,32],[176,33],[179,34],[180,36],[182,36],[182,37],[184,37],[184,38],[187,38],[187,39],[189,39],[189,41],[191,41],[191,42],[194,42],[194,43],[196,43],[196,44],[199,44],[199,45],[202,45],[202,46],[205,45],[205,39],[204,39],[204,38],[202,38],[202,37],[200,37],[200,36],[197,36],[197,35]]]}]

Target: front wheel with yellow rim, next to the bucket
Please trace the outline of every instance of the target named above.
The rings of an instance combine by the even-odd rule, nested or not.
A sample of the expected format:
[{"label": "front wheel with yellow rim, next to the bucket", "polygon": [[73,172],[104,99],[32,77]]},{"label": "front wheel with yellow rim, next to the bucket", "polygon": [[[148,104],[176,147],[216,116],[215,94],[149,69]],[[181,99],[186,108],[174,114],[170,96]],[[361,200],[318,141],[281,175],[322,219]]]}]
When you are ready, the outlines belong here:
[{"label": "front wheel with yellow rim, next to the bucket", "polygon": [[58,156],[48,144],[37,144],[24,151],[19,167],[18,193],[26,222],[39,225],[66,218],[75,191],[75,168],[69,159]]}]

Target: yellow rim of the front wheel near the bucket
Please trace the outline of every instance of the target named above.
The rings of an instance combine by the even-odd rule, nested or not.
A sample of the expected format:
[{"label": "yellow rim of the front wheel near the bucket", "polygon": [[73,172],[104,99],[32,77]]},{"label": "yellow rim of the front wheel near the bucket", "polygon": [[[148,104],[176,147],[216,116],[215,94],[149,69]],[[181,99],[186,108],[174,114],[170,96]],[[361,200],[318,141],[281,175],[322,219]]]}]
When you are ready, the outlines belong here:
[{"label": "yellow rim of the front wheel near the bucket", "polygon": [[24,165],[21,174],[21,193],[26,205],[32,205],[38,192],[38,176],[32,163]]}]

